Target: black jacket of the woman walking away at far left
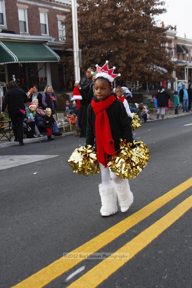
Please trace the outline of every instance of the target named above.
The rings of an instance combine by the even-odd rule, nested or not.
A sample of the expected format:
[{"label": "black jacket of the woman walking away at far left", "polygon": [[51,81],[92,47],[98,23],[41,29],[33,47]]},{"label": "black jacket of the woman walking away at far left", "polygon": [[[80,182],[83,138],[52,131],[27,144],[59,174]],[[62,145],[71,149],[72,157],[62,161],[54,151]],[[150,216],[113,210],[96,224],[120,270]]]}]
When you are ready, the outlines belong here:
[{"label": "black jacket of the woman walking away at far left", "polygon": [[11,89],[5,94],[1,111],[4,112],[7,105],[8,105],[8,112],[19,109],[25,110],[24,103],[27,102],[28,102],[27,95],[22,89],[19,88]]}]

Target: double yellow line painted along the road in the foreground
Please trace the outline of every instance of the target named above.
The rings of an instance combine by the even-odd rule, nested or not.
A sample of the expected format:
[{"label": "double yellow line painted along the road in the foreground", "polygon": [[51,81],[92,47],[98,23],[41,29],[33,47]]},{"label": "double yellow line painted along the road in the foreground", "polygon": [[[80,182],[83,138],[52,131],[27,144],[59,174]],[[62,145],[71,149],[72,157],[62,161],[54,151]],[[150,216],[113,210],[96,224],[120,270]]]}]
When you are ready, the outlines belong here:
[{"label": "double yellow line painted along the road in the foreground", "polygon": [[[170,190],[163,196],[157,198],[144,208],[140,209],[133,215],[127,217],[122,220],[118,224],[109,228],[105,232],[96,236],[92,240],[86,242],[82,246],[77,249],[71,251],[70,253],[94,253],[109,244],[115,238],[120,236],[122,233],[151,215],[157,209],[161,208],[167,202],[174,199],[176,196],[187,190],[192,186],[192,177],[182,184],[178,185],[174,189]],[[107,279],[112,273],[118,270],[121,266],[123,266],[127,261],[129,261],[135,254],[141,251],[144,247],[146,247],[153,239],[155,239],[159,234],[161,234],[166,228],[168,228],[172,223],[174,223],[179,217],[181,217],[187,210],[192,207],[192,196],[188,197],[178,206],[176,206],[173,210],[167,213],[164,217],[156,221],[149,228],[141,232],[138,236],[133,238],[126,245],[121,247],[119,252],[128,252],[129,259],[125,260],[115,260],[115,259],[105,259],[92,268],[90,271],[81,276],[77,281],[73,282],[69,287],[97,287],[100,283],[102,283],[105,279]],[[65,259],[61,257],[56,260],[49,266],[43,268],[37,273],[31,275],[29,278],[23,280],[13,287],[19,288],[40,288],[55,278],[59,277],[64,272],[68,271],[78,263],[83,261],[83,259]]]}]

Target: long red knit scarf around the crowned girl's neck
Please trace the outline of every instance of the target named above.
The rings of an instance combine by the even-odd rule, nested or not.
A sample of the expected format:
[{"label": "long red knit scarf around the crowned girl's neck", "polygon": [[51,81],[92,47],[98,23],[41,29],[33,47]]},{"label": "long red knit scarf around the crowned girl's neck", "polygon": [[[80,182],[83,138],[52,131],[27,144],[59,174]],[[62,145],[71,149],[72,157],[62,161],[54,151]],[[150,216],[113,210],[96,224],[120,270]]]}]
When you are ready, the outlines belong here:
[{"label": "long red knit scarf around the crowned girl's neck", "polygon": [[95,137],[97,143],[97,161],[105,168],[107,167],[107,154],[115,155],[114,140],[111,135],[111,127],[106,112],[116,100],[115,95],[110,95],[100,102],[91,101],[91,106],[96,114],[95,120]]}]

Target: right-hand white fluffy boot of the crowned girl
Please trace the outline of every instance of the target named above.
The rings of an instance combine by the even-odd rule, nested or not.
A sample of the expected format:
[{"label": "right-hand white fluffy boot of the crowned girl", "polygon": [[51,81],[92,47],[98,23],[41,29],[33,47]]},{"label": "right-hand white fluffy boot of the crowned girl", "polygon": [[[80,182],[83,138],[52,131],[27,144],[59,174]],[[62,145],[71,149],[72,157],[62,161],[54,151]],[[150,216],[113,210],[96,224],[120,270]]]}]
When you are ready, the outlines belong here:
[{"label": "right-hand white fluffy boot of the crowned girl", "polygon": [[113,182],[113,187],[117,193],[121,212],[126,212],[133,203],[133,193],[130,190],[128,179],[124,179],[121,184]]}]

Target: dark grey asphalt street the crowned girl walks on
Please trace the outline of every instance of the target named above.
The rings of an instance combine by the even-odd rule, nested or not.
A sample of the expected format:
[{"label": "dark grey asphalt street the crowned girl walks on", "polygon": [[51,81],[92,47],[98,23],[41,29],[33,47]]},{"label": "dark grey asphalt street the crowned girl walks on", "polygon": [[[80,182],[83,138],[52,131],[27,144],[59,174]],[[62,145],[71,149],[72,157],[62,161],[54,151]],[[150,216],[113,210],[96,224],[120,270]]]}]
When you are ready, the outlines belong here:
[{"label": "dark grey asphalt street the crowned girl walks on", "polygon": [[[74,149],[84,144],[84,138],[69,136],[49,143],[44,141],[0,149],[0,163],[5,165],[13,161],[10,168],[4,169],[3,164],[0,167],[0,286],[12,287],[20,283],[61,258],[64,252],[83,245],[192,177],[192,125],[184,126],[186,124],[192,124],[192,115],[149,122],[142,124],[140,130],[133,131],[135,140],[142,139],[148,145],[150,161],[138,177],[129,181],[134,195],[129,211],[118,211],[106,218],[101,217],[99,212],[100,175],[84,177],[74,174],[66,163]],[[7,155],[12,156],[8,157],[12,160],[6,162],[3,156]],[[14,159],[18,155],[23,156],[21,160]],[[39,156],[38,160],[36,155],[46,156]],[[49,155],[57,156],[50,158]],[[24,158],[25,162],[22,162]],[[120,233],[118,238],[98,252],[117,251],[191,194],[192,187],[189,187],[150,216]],[[149,240],[145,248],[138,250],[116,272],[109,272],[110,275],[101,281],[99,287],[192,287],[191,211],[189,209],[178,217],[154,240]],[[87,282],[81,282],[82,286],[72,283],[101,262],[85,260],[61,276],[53,277],[54,280],[47,282],[49,284],[45,287],[68,287],[70,284],[73,285],[71,287],[96,287],[94,277],[97,274],[89,276],[92,285]],[[79,268],[82,271],[68,280],[68,276]],[[107,270],[107,266],[104,267],[101,274],[107,273]],[[36,282],[33,286],[18,287],[41,285]]]}]

